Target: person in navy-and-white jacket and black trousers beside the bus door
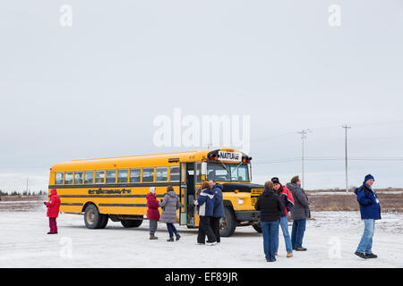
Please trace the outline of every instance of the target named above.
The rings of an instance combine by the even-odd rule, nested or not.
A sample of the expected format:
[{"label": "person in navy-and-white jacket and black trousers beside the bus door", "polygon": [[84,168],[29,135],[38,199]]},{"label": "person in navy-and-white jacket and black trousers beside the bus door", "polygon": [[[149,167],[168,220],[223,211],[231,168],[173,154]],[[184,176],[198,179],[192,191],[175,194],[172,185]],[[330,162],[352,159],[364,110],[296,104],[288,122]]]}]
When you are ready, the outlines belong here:
[{"label": "person in navy-and-white jacket and black trousers beside the bus door", "polygon": [[194,205],[197,206],[197,211],[200,216],[199,222],[199,234],[197,236],[197,243],[205,244],[207,235],[207,244],[214,245],[217,243],[217,238],[211,229],[210,219],[214,212],[214,193],[210,189],[208,182],[203,182],[201,185],[201,193],[194,201]]}]

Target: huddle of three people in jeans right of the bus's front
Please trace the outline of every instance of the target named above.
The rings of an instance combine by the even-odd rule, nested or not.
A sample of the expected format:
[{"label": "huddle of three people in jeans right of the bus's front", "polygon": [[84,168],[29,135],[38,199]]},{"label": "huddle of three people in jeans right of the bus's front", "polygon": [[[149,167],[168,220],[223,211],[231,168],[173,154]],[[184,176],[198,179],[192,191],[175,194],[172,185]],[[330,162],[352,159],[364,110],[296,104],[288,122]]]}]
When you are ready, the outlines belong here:
[{"label": "huddle of three people in jeans right of the bus's front", "polygon": [[[254,205],[261,212],[260,221],[263,235],[263,250],[266,261],[276,261],[279,251],[279,227],[286,243],[287,257],[293,257],[293,250],[303,248],[306,219],[311,217],[308,197],[301,188],[301,181],[296,176],[283,186],[279,178],[274,177],[264,183],[264,191]],[[293,227],[291,236],[288,232],[288,213],[291,212]]]}]

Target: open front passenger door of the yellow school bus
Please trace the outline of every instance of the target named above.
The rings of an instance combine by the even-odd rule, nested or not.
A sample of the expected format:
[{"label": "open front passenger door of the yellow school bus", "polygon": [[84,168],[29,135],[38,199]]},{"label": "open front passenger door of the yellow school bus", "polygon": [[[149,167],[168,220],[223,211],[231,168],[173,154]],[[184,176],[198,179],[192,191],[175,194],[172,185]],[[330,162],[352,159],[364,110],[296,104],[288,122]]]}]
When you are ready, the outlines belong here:
[{"label": "open front passenger door of the yellow school bus", "polygon": [[195,198],[194,188],[194,164],[181,163],[181,210],[179,224],[194,226],[193,200]]}]

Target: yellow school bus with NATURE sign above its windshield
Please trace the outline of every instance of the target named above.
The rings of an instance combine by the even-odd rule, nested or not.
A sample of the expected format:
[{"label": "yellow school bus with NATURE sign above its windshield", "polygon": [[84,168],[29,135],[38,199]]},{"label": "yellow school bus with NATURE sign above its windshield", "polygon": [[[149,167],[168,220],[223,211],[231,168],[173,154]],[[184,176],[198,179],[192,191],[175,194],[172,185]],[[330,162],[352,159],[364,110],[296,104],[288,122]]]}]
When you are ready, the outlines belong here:
[{"label": "yellow school bus with NATURE sign above its windshield", "polygon": [[236,149],[220,148],[73,160],[52,166],[49,194],[57,189],[60,212],[84,214],[89,229],[105,228],[108,219],[124,227],[139,227],[147,219],[150,187],[156,188],[160,200],[171,185],[182,205],[177,222],[193,228],[199,225],[195,193],[202,181],[214,179],[223,185],[221,235],[231,236],[236,226],[243,225],[261,231],[254,203],[263,186],[251,183],[251,159]]}]

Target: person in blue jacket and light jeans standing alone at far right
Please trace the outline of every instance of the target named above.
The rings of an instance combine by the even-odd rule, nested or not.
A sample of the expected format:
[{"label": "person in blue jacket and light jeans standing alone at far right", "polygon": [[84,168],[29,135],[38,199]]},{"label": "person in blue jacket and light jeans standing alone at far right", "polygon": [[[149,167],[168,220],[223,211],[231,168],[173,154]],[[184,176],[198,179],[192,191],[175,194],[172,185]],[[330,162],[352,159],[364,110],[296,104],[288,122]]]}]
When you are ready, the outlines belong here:
[{"label": "person in blue jacket and light jeans standing alone at far right", "polygon": [[364,221],[364,234],[356,248],[356,256],[364,259],[378,257],[373,254],[372,248],[375,220],[381,219],[381,206],[372,188],[373,181],[373,175],[366,175],[363,185],[354,191],[360,205],[361,219]]}]

